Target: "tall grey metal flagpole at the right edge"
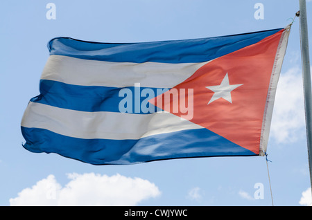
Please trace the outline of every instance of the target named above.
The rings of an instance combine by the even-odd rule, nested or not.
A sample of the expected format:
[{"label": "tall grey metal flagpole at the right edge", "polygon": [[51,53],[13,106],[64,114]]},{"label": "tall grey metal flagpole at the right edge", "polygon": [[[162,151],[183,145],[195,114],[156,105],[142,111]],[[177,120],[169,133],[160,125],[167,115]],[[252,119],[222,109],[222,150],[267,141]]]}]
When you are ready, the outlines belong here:
[{"label": "tall grey metal flagpole at the right edge", "polygon": [[[308,25],[306,19],[306,0],[299,0],[300,10],[300,42],[302,56],[302,78],[304,86],[304,107],[306,111],[306,138],[308,145],[310,182],[312,187],[312,94],[311,72],[309,61]],[[311,190],[312,191],[312,190]]]}]

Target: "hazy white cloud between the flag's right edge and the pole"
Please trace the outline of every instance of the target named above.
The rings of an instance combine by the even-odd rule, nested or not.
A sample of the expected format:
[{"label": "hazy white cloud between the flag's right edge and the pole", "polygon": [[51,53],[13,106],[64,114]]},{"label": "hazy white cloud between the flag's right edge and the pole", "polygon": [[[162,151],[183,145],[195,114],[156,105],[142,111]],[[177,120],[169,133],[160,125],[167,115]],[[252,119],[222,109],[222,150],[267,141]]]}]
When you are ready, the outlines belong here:
[{"label": "hazy white cloud between the flag's right edge and the pole", "polygon": [[278,143],[295,142],[304,131],[302,73],[293,67],[279,77],[270,134]]}]

